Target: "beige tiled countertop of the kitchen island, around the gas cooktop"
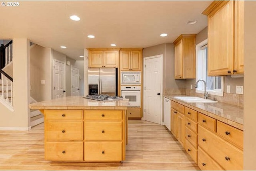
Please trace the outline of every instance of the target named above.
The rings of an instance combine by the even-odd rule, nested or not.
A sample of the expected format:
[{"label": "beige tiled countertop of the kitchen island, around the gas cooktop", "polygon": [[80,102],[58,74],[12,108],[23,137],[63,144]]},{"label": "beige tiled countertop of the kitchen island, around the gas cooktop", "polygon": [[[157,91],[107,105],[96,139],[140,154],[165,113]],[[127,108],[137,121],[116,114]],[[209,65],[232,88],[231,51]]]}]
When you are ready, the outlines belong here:
[{"label": "beige tiled countertop of the kitchen island, around the gas cooktop", "polygon": [[118,100],[91,100],[83,96],[67,96],[37,103],[29,104],[30,109],[37,110],[127,110],[129,99],[122,98]]}]

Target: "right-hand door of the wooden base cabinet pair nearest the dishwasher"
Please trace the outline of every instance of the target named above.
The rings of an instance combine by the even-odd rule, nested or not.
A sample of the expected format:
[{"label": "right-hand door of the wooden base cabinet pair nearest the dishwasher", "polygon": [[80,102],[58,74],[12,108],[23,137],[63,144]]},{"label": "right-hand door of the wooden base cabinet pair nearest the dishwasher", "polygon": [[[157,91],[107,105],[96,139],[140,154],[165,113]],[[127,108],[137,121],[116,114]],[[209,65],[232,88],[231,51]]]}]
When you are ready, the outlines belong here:
[{"label": "right-hand door of the wooden base cabinet pair nearest the dishwasher", "polygon": [[185,148],[185,116],[180,112],[177,116],[177,140]]}]

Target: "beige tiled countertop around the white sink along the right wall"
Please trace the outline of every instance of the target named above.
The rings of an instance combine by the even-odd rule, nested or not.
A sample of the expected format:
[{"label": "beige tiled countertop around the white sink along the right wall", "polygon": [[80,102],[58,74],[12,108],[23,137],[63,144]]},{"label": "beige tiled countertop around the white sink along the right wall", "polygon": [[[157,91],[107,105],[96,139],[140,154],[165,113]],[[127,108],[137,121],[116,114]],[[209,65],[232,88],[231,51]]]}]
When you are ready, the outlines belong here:
[{"label": "beige tiled countertop around the white sink along the right wall", "polygon": [[164,95],[175,102],[178,102],[184,106],[197,110],[198,112],[208,115],[221,122],[234,126],[240,130],[243,130],[244,125],[244,109],[240,106],[234,106],[226,103],[188,103],[182,100],[174,98],[174,96],[185,96],[185,95]]}]

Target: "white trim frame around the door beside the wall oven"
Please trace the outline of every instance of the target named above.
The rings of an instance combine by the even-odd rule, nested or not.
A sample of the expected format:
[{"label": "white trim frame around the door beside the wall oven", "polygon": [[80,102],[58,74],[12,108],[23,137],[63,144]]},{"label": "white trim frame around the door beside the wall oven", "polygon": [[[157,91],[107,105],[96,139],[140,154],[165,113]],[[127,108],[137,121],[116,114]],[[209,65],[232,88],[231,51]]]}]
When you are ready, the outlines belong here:
[{"label": "white trim frame around the door beside the wall oven", "polygon": [[[156,58],[156,57],[160,57],[161,58],[161,92],[160,92],[160,106],[161,106],[161,108],[160,108],[160,110],[161,110],[161,125],[163,125],[163,108],[162,108],[162,106],[163,106],[163,54],[161,54],[161,55],[155,55],[155,56],[150,56],[150,57],[144,57],[143,58],[143,87],[142,87],[142,91],[143,91],[143,111],[145,111],[145,99],[146,99],[146,97],[145,97],[145,67],[144,67],[144,65],[145,65],[145,62],[146,62],[146,59],[152,59],[152,58]],[[144,116],[144,114],[145,114],[145,112],[143,112],[143,116]],[[142,118],[141,118],[142,119]],[[143,120],[146,120],[146,116],[144,116],[143,117]]]}]

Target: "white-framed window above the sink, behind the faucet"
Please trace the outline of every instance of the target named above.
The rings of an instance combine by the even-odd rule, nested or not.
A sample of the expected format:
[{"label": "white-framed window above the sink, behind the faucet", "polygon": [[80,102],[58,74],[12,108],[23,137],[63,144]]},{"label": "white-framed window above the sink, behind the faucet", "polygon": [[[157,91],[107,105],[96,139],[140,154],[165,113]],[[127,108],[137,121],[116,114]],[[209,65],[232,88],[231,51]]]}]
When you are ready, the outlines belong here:
[{"label": "white-framed window above the sink, behind the faucet", "polygon": [[[208,94],[223,96],[223,77],[207,76],[207,39],[196,45],[196,81],[206,82]],[[196,92],[204,93],[204,83],[200,81]]]}]

